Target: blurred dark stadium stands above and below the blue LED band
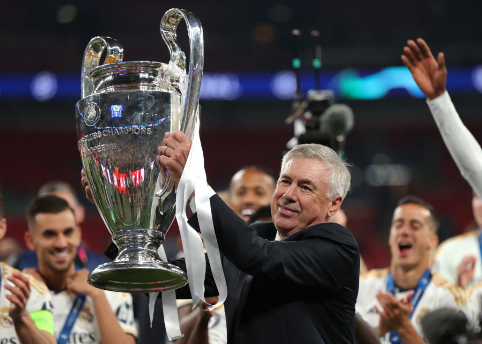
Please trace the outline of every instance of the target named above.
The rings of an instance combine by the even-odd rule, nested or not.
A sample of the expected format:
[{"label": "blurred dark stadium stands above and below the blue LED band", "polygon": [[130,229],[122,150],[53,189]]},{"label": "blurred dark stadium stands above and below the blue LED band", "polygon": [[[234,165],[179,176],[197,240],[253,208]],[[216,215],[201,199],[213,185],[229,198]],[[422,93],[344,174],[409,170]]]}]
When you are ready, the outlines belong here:
[{"label": "blurred dark stadium stands above and below the blue LED band", "polygon": [[[0,11],[0,75],[21,77],[40,71],[78,73],[87,42],[110,36],[122,43],[126,61],[168,62],[159,22],[170,8],[185,8],[201,20],[205,72],[277,72],[290,68],[294,28],[320,31],[323,70],[380,69],[400,65],[409,38],[423,37],[448,66],[474,67],[482,61],[477,1],[297,1],[297,2],[126,2],[73,1],[67,4],[8,2]],[[186,29],[178,37],[187,49]],[[311,49],[302,36],[301,59]],[[450,75],[449,75],[450,78]],[[12,80],[15,80],[13,78]],[[12,87],[14,87],[14,81]],[[3,86],[5,88],[5,86]],[[449,89],[450,91],[450,89]],[[0,94],[0,187],[6,198],[8,236],[23,237],[24,210],[46,181],[64,180],[79,193],[81,162],[76,147],[77,99],[39,102]],[[482,97],[452,97],[469,130],[480,142]],[[423,99],[339,99],[351,106],[355,127],[347,137],[353,188],[343,204],[369,267],[388,264],[386,244],[397,200],[414,194],[431,202],[442,218],[440,237],[462,232],[472,221],[471,191],[450,158]],[[279,171],[293,129],[284,124],[291,102],[274,99],[201,101],[201,140],[209,183],[227,187],[240,166],[261,164]],[[373,186],[371,164],[403,164],[406,186]],[[87,208],[84,240],[102,251],[109,240],[95,207]],[[172,230],[169,241],[177,235]]]}]

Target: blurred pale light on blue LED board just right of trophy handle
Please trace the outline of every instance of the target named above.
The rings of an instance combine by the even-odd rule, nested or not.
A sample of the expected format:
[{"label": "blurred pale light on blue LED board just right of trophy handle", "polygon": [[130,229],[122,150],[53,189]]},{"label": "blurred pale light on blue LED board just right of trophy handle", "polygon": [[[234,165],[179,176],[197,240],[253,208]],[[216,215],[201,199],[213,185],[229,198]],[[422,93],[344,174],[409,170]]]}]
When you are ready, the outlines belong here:
[{"label": "blurred pale light on blue LED board just right of trophy handle", "polygon": [[234,100],[242,93],[237,75],[232,73],[204,74],[199,97],[202,99]]}]

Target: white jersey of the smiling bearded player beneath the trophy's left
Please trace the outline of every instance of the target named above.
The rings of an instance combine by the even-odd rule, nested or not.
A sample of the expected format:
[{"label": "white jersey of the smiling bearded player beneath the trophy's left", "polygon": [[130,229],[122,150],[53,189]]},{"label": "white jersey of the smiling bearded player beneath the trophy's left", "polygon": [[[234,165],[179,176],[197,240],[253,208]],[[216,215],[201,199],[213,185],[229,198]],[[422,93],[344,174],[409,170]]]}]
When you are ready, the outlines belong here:
[{"label": "white jersey of the smiling bearded player beneath the trophy's left", "polygon": [[[138,332],[134,322],[131,294],[107,290],[103,291],[121,328],[124,332],[131,333],[137,337]],[[67,290],[63,290],[52,296],[55,338],[59,337],[59,333],[64,326],[65,319],[76,297],[77,295],[71,294]],[[70,344],[97,344],[101,342],[94,304],[88,296],[85,298],[85,303],[75,320],[68,342]]]}]

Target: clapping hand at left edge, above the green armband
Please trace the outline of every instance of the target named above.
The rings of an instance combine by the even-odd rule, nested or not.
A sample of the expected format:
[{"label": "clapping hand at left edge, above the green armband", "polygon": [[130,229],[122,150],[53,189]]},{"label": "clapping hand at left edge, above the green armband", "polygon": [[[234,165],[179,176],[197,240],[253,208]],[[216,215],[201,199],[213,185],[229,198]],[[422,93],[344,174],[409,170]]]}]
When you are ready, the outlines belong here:
[{"label": "clapping hand at left edge, above the green armband", "polygon": [[6,294],[5,297],[11,302],[9,315],[14,321],[18,319],[23,313],[26,313],[27,302],[30,297],[30,282],[27,276],[14,272],[12,276],[7,279],[13,285],[5,284],[5,289],[12,294]]}]

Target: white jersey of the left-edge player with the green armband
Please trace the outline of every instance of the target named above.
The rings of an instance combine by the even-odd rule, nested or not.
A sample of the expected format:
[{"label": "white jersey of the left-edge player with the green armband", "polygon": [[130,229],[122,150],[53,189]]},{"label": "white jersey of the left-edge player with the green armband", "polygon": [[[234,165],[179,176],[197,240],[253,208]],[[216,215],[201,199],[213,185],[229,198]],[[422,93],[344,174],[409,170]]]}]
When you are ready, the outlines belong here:
[{"label": "white jersey of the left-edge player with the green armband", "polygon": [[[0,262],[0,343],[20,344],[12,318],[9,316],[10,300],[5,295],[11,294],[5,284],[13,285],[7,280],[13,271],[20,272],[4,262]],[[26,309],[29,313],[47,309],[52,311],[51,293],[47,286],[31,275],[24,274],[30,281],[30,296]]]}]

